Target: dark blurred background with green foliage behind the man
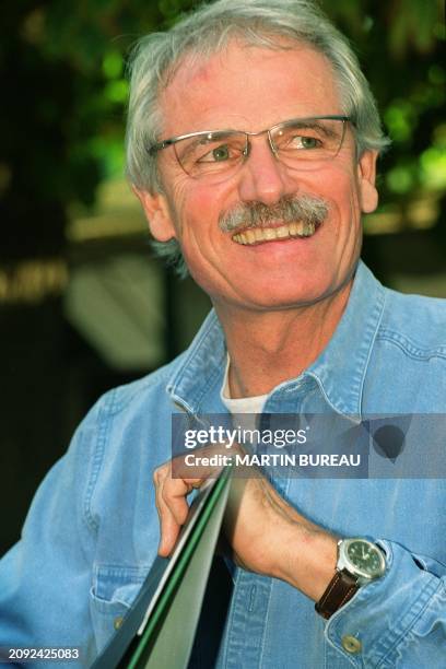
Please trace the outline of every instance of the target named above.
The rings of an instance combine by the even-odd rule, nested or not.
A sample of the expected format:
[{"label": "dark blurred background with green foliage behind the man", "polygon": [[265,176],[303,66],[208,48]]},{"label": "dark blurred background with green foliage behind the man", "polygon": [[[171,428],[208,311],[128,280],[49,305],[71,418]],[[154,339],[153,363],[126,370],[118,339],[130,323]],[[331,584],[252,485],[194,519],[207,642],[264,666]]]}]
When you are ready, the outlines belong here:
[{"label": "dark blurred background with green foliage behind the man", "polygon": [[[209,308],[152,257],[122,177],[129,47],[195,4],[0,9],[0,554],[95,399],[175,356]],[[321,4],[355,45],[394,140],[364,258],[389,285],[446,296],[443,2]]]}]

